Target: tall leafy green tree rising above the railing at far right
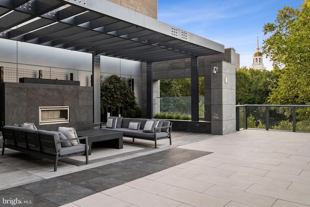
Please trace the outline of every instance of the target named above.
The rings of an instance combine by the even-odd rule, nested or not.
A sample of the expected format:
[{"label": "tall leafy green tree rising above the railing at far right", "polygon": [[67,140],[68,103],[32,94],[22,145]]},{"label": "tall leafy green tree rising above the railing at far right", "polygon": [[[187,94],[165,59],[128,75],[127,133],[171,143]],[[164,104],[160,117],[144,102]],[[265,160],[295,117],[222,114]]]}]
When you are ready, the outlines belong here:
[{"label": "tall leafy green tree rising above the railing at far right", "polygon": [[285,6],[274,23],[263,27],[270,36],[263,53],[282,68],[270,104],[310,104],[310,0],[301,9]]}]

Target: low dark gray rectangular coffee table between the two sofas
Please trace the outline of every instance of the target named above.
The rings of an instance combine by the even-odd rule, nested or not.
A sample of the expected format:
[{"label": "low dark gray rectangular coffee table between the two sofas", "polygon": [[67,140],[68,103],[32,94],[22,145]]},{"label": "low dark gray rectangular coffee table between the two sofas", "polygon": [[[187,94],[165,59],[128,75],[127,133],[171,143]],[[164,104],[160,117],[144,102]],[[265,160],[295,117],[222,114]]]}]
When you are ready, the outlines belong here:
[{"label": "low dark gray rectangular coffee table between the two sofas", "polygon": [[78,137],[88,137],[89,150],[88,154],[92,154],[92,143],[102,142],[105,147],[122,149],[123,148],[123,132],[89,129],[77,131]]}]

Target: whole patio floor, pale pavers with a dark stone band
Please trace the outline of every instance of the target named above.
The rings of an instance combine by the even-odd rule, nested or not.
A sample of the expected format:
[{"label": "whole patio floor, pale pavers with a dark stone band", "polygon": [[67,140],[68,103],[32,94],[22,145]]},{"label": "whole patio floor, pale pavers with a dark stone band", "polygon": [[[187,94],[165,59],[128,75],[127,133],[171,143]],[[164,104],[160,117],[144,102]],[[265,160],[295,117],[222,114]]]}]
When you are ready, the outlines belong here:
[{"label": "whole patio floor, pale pavers with a dark stone band", "polygon": [[57,172],[50,172],[47,159],[17,162],[20,153],[11,150],[0,156],[0,194],[32,195],[34,206],[310,206],[309,133],[247,129],[172,136],[172,145],[160,140],[159,148],[124,137],[124,149],[148,147],[92,161],[93,152],[88,165],[60,160]]}]

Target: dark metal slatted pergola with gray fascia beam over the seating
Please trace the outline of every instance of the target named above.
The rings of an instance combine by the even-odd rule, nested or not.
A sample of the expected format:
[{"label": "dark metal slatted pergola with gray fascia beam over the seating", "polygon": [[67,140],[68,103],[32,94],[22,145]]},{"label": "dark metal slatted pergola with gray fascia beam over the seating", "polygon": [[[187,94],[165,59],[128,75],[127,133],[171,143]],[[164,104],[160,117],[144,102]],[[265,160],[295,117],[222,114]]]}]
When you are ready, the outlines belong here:
[{"label": "dark metal slatted pergola with gray fascia beam over the seating", "polygon": [[[152,73],[154,62],[182,58],[195,62],[199,56],[224,52],[221,44],[109,0],[0,0],[0,38],[92,53],[94,108],[98,55],[144,62]],[[147,99],[152,102],[152,95]]]}]

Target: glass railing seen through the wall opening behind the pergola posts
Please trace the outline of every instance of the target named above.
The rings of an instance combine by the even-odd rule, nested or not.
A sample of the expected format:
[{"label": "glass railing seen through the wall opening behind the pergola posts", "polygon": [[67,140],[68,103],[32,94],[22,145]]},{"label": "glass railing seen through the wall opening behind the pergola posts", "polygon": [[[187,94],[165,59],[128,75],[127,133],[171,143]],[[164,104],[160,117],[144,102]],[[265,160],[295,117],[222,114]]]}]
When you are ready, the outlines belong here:
[{"label": "glass railing seen through the wall opening behind the pergola posts", "polygon": [[[159,113],[191,116],[191,97],[159,97]],[[204,96],[199,97],[199,118],[204,119]]]}]

